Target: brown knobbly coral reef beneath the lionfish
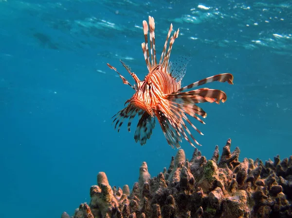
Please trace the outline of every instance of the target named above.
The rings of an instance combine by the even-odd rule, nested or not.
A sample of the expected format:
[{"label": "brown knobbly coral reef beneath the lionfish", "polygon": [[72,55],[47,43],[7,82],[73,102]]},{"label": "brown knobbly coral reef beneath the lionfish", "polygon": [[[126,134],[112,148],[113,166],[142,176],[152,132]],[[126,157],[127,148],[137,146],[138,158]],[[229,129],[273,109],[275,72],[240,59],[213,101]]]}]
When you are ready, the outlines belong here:
[{"label": "brown knobbly coral reef beneath the lionfish", "polygon": [[[104,172],[91,186],[90,205],[81,204],[73,218],[289,218],[292,217],[292,156],[262,161],[230,151],[220,160],[216,146],[211,160],[195,149],[190,161],[182,149],[168,169],[150,177],[146,162],[130,192],[111,187]],[[62,218],[67,218],[67,213]]]}]

